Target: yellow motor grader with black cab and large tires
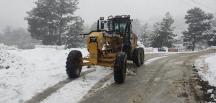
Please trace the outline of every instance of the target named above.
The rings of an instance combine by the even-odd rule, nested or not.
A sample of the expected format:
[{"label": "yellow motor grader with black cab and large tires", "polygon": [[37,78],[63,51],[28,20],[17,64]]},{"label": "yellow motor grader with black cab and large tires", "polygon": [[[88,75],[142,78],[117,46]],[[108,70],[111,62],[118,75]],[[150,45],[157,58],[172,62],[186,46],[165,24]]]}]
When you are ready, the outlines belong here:
[{"label": "yellow motor grader with black cab and large tires", "polygon": [[66,72],[69,78],[78,78],[83,66],[99,65],[112,67],[116,83],[124,83],[127,61],[136,66],[144,63],[144,49],[137,45],[137,35],[132,31],[129,15],[101,17],[97,30],[83,34],[87,36],[88,56],[72,50],[67,57]]}]

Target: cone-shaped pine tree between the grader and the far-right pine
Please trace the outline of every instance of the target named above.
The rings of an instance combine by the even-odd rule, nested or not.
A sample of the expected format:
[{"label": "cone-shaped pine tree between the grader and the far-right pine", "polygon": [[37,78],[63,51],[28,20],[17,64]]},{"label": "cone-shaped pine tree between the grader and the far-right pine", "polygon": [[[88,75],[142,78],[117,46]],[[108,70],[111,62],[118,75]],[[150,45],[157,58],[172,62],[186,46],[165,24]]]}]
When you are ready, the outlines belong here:
[{"label": "cone-shaped pine tree between the grader and the far-right pine", "polygon": [[162,22],[156,23],[154,25],[153,36],[152,36],[152,46],[153,47],[173,47],[174,37],[176,36],[173,31],[172,26],[174,19],[170,13],[166,13]]}]

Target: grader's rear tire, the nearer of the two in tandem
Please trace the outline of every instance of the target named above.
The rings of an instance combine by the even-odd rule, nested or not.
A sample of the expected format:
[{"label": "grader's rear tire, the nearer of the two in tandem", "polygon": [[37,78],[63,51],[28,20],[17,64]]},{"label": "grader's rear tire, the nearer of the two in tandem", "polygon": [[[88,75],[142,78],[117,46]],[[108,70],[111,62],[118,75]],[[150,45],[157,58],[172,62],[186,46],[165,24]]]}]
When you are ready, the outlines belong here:
[{"label": "grader's rear tire, the nearer of the two in tandem", "polygon": [[141,52],[139,48],[135,48],[133,51],[133,63],[136,64],[137,67],[141,66]]}]

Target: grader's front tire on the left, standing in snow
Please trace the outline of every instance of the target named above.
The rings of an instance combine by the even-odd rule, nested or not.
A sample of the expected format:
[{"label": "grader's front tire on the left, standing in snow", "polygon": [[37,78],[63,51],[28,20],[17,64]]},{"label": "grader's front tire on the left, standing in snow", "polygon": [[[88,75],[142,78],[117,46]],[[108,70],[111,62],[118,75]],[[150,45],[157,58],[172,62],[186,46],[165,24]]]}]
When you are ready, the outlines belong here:
[{"label": "grader's front tire on the left, standing in snow", "polygon": [[82,53],[73,50],[68,54],[66,61],[66,72],[69,78],[78,78],[82,71]]}]

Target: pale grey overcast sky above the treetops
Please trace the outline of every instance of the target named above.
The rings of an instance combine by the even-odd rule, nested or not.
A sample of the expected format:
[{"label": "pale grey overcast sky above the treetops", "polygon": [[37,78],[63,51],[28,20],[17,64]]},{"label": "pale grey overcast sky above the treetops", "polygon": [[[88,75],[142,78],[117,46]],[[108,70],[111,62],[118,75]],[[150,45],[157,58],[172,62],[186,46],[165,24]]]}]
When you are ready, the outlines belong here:
[{"label": "pale grey overcast sky above the treetops", "polygon": [[[27,27],[26,12],[36,0],[0,0],[0,30],[6,26]],[[133,18],[154,21],[169,11],[174,18],[183,18],[192,7],[216,13],[216,0],[80,0],[76,15],[90,25],[100,16],[130,14]]]}]

